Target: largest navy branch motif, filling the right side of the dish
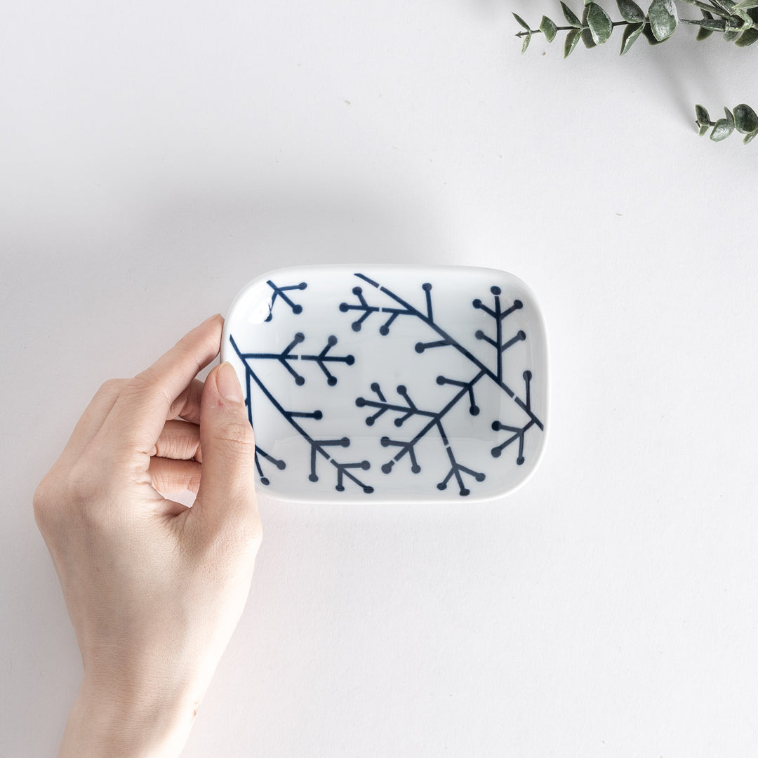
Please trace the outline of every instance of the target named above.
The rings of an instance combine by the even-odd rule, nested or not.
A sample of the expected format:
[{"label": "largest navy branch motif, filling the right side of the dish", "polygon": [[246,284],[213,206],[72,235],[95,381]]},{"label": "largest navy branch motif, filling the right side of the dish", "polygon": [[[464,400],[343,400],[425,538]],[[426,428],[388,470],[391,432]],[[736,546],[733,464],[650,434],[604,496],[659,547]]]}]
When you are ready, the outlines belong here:
[{"label": "largest navy branch motif, filling the right side of the dish", "polygon": [[440,490],[446,489],[449,480],[454,477],[456,479],[456,483],[458,484],[460,495],[466,496],[471,492],[471,490],[465,486],[465,482],[462,477],[463,474],[471,476],[475,479],[475,481],[484,481],[485,475],[483,472],[468,468],[465,465],[462,465],[462,463],[456,459],[455,453],[453,452],[453,448],[449,443],[448,437],[442,424],[443,418],[454,407],[456,407],[460,400],[466,396],[468,396],[469,413],[473,416],[479,414],[480,409],[475,402],[475,385],[484,377],[488,377],[490,381],[493,381],[493,383],[497,385],[497,387],[500,387],[500,390],[502,390],[503,393],[512,399],[515,405],[518,406],[518,408],[521,409],[527,417],[525,424],[520,427],[513,426],[511,424],[505,424],[501,421],[493,421],[493,431],[509,431],[511,433],[511,436],[508,437],[503,443],[494,446],[490,450],[490,453],[493,458],[500,457],[503,453],[503,449],[509,446],[509,444],[518,440],[518,456],[516,458],[516,463],[517,465],[522,465],[524,462],[524,440],[526,432],[533,426],[539,428],[540,430],[543,429],[542,421],[540,421],[540,419],[537,417],[537,415],[535,415],[531,408],[531,371],[525,371],[523,374],[525,380],[524,399],[518,397],[514,390],[512,390],[511,387],[503,382],[503,353],[516,343],[522,342],[526,339],[524,330],[518,330],[515,332],[515,334],[511,334],[506,339],[503,334],[503,321],[505,321],[505,319],[513,312],[523,308],[522,301],[514,300],[511,305],[503,307],[503,303],[501,302],[502,291],[500,290],[500,287],[490,287],[490,293],[493,296],[493,307],[490,308],[489,305],[485,305],[481,299],[475,299],[472,302],[473,308],[481,310],[484,312],[484,314],[492,318],[494,321],[494,337],[485,334],[484,330],[481,329],[476,330],[474,334],[475,339],[483,340],[495,348],[496,359],[495,368],[493,370],[490,368],[490,366],[487,366],[484,364],[484,362],[478,359],[477,356],[468,350],[459,340],[456,340],[454,337],[452,337],[445,329],[443,329],[443,327],[440,326],[440,324],[437,323],[437,321],[434,320],[434,312],[432,309],[431,301],[431,283],[426,282],[421,286],[421,290],[424,292],[425,300],[425,307],[423,310],[421,310],[416,308],[411,303],[406,302],[405,299],[402,299],[392,290],[389,290],[387,287],[383,287],[380,283],[370,279],[364,274],[356,273],[356,277],[365,281],[371,285],[371,287],[376,288],[381,293],[384,293],[384,295],[393,302],[393,305],[373,305],[368,302],[368,299],[363,293],[362,287],[353,287],[352,293],[358,298],[358,302],[352,304],[348,302],[340,303],[341,312],[346,313],[353,311],[359,312],[361,314],[359,319],[352,323],[353,330],[359,331],[362,327],[363,322],[366,321],[366,319],[368,319],[374,313],[390,315],[390,318],[388,318],[387,321],[385,321],[384,324],[379,327],[379,333],[385,337],[387,334],[389,334],[390,327],[399,316],[411,316],[413,318],[418,318],[430,328],[430,330],[434,333],[435,338],[427,342],[419,341],[416,343],[415,352],[423,353],[426,350],[435,349],[438,347],[452,347],[461,353],[462,356],[465,356],[465,358],[468,359],[468,362],[470,362],[473,367],[478,369],[474,377],[468,381],[453,379],[445,376],[437,377],[437,384],[440,386],[451,385],[453,387],[459,388],[453,397],[451,397],[449,401],[446,402],[446,405],[437,411],[419,409],[418,406],[416,406],[412,399],[409,397],[407,388],[402,384],[397,387],[397,393],[402,398],[402,403],[388,401],[382,393],[381,387],[377,382],[371,384],[371,391],[377,396],[377,399],[366,398],[363,396],[356,398],[356,406],[359,408],[374,409],[374,412],[365,419],[365,423],[368,426],[373,425],[377,419],[381,418],[381,416],[387,412],[395,415],[394,424],[396,427],[402,426],[402,424],[408,421],[409,418],[417,416],[428,418],[427,423],[424,424],[410,440],[397,440],[388,436],[381,437],[381,445],[383,447],[393,447],[398,449],[396,455],[384,463],[384,465],[382,465],[381,470],[385,474],[389,474],[396,462],[399,462],[404,456],[407,455],[411,464],[412,473],[418,474],[421,471],[421,465],[419,464],[418,458],[416,456],[416,446],[431,430],[436,428],[440,434],[440,439],[443,442],[443,446],[446,450],[450,463],[450,468],[446,474],[446,477],[443,479],[443,481],[440,481],[440,483],[437,484],[437,488]]}]

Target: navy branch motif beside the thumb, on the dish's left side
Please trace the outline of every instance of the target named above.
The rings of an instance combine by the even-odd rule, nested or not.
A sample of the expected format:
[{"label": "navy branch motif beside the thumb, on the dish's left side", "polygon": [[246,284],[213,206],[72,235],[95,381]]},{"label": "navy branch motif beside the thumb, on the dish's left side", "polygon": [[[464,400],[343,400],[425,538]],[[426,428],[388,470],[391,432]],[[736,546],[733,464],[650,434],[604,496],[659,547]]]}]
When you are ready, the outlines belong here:
[{"label": "navy branch motif beside the thumb, on the dish's left side", "polygon": [[[365,494],[371,494],[374,491],[374,487],[371,487],[369,484],[365,484],[362,480],[360,480],[356,475],[352,474],[351,469],[361,469],[362,471],[368,471],[369,468],[371,468],[371,463],[363,460],[359,462],[341,462],[338,461],[336,458],[330,455],[330,453],[327,452],[327,448],[339,446],[339,447],[349,447],[350,440],[348,437],[341,437],[339,440],[318,440],[312,437],[308,431],[305,430],[305,428],[302,426],[302,424],[299,423],[300,418],[312,418],[315,421],[320,421],[321,418],[324,417],[323,413],[320,410],[315,411],[290,411],[285,409],[281,403],[274,397],[273,393],[271,393],[271,390],[269,390],[268,387],[266,387],[265,383],[262,381],[261,377],[258,376],[258,373],[256,373],[255,369],[252,367],[251,362],[255,360],[266,360],[266,359],[274,359],[280,362],[281,365],[283,365],[285,368],[287,368],[288,371],[290,371],[290,374],[293,374],[293,377],[295,377],[296,384],[304,384],[305,380],[303,377],[298,374],[296,371],[294,371],[292,368],[290,368],[289,361],[290,360],[296,360],[296,359],[304,359],[304,360],[313,360],[315,361],[320,367],[321,370],[324,371],[324,374],[327,376],[327,384],[330,386],[334,386],[336,384],[337,380],[336,378],[327,371],[327,368],[325,367],[325,364],[327,360],[332,361],[342,361],[346,363],[347,365],[352,365],[354,362],[353,356],[343,356],[341,358],[337,358],[337,356],[327,356],[328,350],[334,346],[337,343],[336,337],[330,337],[327,340],[327,346],[318,353],[318,356],[293,356],[292,355],[292,349],[297,344],[301,343],[305,338],[302,337],[302,333],[298,333],[295,335],[295,338],[290,343],[290,345],[287,346],[281,353],[246,353],[242,352],[237,346],[236,341],[234,340],[234,337],[232,335],[229,336],[230,344],[236,352],[236,355],[239,357],[240,361],[243,362],[243,365],[245,367],[245,389],[246,389],[246,405],[248,408],[248,418],[250,423],[252,424],[252,402],[251,402],[251,390],[252,390],[252,382],[257,385],[257,387],[262,391],[262,393],[268,398],[268,401],[271,402],[271,405],[274,406],[275,409],[282,415],[282,417],[290,424],[290,426],[295,429],[295,431],[302,437],[303,440],[305,440],[305,443],[307,443],[310,446],[310,473],[309,473],[309,480],[312,482],[318,481],[318,461],[320,458],[325,459],[328,463],[330,463],[337,471],[337,484],[335,489],[338,492],[343,492],[345,490],[345,478],[348,478],[350,481],[352,481],[354,484],[358,485]],[[299,379],[302,379],[303,381],[298,381]],[[331,381],[333,380],[334,381]],[[258,456],[262,456],[269,462],[273,463],[277,468],[280,470],[285,468],[286,463],[281,460],[275,459],[273,456],[270,456],[268,453],[265,453],[261,449],[256,448],[256,457],[255,457],[255,465],[258,468],[258,474],[261,476],[261,483],[262,484],[269,484],[269,480],[267,477],[265,477],[262,466],[260,463],[260,459]],[[319,457],[320,456],[320,457]]]}]

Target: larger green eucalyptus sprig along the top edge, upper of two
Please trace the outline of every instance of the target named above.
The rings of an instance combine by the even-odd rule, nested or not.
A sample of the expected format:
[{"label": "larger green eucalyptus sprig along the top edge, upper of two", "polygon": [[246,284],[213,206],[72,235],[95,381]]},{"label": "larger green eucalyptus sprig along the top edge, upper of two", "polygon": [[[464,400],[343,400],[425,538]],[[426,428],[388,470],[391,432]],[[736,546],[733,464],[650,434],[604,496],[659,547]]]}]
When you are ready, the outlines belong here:
[{"label": "larger green eucalyptus sprig along the top edge, upper of two", "polygon": [[681,18],[674,0],[653,0],[645,13],[634,0],[616,0],[622,20],[614,21],[606,11],[592,0],[584,0],[581,19],[561,2],[563,17],[568,26],[559,25],[547,16],[542,17],[540,27],[532,29],[518,14],[515,20],[523,27],[516,36],[524,38],[522,52],[531,42],[534,34],[543,34],[548,42],[553,42],[558,32],[566,32],[563,57],[571,55],[581,39],[584,46],[594,48],[607,42],[615,27],[624,27],[621,53],[624,55],[634,42],[644,36],[651,45],[665,42],[680,24],[699,27],[697,39],[703,40],[714,32],[723,34],[727,42],[735,42],[739,47],[747,47],[758,41],[758,0],[681,0],[700,9],[702,18]]}]

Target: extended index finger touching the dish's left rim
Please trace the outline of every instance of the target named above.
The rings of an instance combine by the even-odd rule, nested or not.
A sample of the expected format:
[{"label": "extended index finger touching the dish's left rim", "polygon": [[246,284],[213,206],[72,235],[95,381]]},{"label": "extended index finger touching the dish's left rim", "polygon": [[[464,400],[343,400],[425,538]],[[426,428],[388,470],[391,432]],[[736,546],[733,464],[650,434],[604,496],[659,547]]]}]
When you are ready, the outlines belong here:
[{"label": "extended index finger touching the dish's left rim", "polygon": [[220,314],[211,316],[130,380],[99,431],[102,441],[149,457],[174,401],[218,356],[223,326]]}]

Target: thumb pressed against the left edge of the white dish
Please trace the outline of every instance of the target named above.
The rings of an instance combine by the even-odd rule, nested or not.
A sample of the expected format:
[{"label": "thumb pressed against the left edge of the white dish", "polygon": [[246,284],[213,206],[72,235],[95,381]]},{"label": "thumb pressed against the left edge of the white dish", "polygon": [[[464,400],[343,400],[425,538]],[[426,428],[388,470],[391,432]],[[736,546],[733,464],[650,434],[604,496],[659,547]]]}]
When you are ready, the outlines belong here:
[{"label": "thumb pressed against the left edge of the white dish", "polygon": [[204,522],[260,529],[255,500],[255,439],[236,371],[222,363],[208,374],[200,401],[202,473],[196,505]]}]

